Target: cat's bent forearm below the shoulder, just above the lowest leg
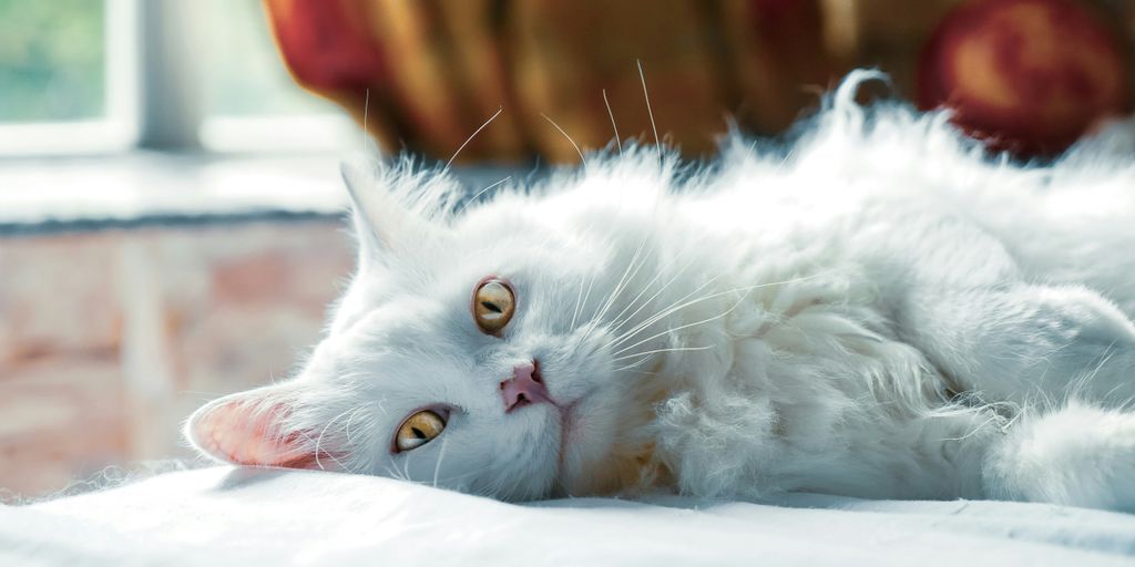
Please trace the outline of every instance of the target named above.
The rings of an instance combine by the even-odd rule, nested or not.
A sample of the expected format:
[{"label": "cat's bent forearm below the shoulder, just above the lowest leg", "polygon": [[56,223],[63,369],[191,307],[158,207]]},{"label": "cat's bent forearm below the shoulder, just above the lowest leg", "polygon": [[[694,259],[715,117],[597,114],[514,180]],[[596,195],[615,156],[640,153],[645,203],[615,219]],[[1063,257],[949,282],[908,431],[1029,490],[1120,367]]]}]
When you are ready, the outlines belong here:
[{"label": "cat's bent forearm below the shoulder, just above the lowest leg", "polygon": [[899,323],[953,388],[987,401],[1135,399],[1135,324],[1083,287],[923,284]]}]

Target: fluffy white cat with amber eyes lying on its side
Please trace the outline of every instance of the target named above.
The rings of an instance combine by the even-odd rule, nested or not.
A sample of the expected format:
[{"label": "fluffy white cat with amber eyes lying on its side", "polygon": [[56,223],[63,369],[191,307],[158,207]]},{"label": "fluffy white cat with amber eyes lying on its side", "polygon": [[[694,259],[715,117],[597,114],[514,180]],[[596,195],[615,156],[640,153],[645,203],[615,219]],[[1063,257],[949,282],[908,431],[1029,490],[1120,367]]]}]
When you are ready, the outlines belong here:
[{"label": "fluffy white cat with amber eyes lying on its side", "polygon": [[594,154],[464,211],[444,171],[345,167],[359,269],[326,338],[187,438],[508,500],[1135,511],[1135,125],[1022,167],[857,105],[871,77],[788,147]]}]

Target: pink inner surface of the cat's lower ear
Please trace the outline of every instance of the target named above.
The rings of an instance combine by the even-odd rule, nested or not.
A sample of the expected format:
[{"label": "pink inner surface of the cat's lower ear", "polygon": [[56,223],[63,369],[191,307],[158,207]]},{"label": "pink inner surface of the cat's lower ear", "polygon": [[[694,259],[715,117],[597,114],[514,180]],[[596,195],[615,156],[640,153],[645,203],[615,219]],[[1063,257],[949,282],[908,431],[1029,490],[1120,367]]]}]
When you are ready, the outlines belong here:
[{"label": "pink inner surface of the cat's lower ear", "polygon": [[190,424],[193,441],[213,457],[237,465],[321,468],[310,437],[281,429],[284,404],[237,397],[207,407]]}]

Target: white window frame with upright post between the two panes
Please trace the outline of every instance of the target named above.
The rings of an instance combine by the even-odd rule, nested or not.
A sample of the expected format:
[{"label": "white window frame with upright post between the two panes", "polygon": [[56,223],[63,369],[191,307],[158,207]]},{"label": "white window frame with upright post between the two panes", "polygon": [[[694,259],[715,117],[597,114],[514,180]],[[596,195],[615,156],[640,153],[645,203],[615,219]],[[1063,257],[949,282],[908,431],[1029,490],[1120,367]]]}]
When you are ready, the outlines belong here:
[{"label": "white window frame with upright post between the two panes", "polygon": [[[184,0],[104,0],[106,113],[0,122],[6,158],[163,152],[328,153],[356,139],[345,113],[209,116],[194,88],[202,19]],[[302,132],[287,136],[286,133]]]}]

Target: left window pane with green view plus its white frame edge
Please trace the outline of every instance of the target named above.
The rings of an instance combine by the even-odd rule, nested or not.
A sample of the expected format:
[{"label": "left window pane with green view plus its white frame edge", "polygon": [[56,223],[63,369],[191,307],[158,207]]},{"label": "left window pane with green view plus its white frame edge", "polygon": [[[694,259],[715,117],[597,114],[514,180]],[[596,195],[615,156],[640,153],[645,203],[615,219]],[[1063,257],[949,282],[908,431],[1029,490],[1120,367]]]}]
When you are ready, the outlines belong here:
[{"label": "left window pane with green view plus its white frame edge", "polygon": [[0,0],[0,154],[78,153],[137,137],[128,0]]}]

